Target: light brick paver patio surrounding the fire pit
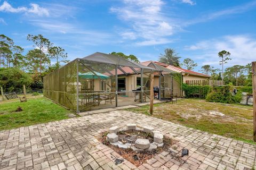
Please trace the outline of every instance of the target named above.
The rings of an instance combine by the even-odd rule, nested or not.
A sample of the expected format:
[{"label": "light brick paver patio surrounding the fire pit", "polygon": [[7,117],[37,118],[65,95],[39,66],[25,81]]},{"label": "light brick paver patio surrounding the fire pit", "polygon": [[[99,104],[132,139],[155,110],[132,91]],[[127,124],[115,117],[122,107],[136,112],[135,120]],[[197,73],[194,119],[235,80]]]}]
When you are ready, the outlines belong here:
[{"label": "light brick paver patio surrounding the fire pit", "polygon": [[[0,131],[0,169],[136,169],[113,149],[94,137],[111,126],[127,123],[153,126],[179,143],[173,152],[189,149],[189,156],[177,162],[170,152],[162,152],[138,169],[252,169],[256,146],[209,134],[158,118],[111,111]],[[255,167],[254,167],[255,168]]]}]

